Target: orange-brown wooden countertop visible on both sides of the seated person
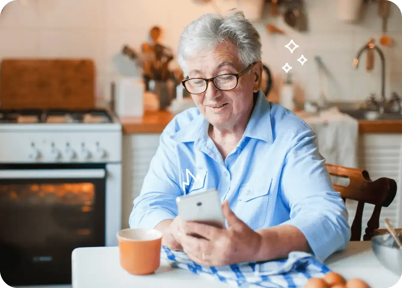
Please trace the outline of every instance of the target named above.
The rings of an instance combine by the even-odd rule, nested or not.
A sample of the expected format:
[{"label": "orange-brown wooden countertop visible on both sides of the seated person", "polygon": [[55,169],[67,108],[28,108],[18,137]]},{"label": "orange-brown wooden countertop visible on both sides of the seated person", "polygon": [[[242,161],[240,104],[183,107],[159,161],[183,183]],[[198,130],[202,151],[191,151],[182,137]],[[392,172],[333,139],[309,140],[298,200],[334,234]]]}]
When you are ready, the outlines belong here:
[{"label": "orange-brown wooden countertop visible on both sides of the seated person", "polygon": [[[142,117],[121,117],[124,134],[162,133],[174,115],[167,111],[146,111]],[[359,134],[401,133],[402,120],[359,120]]]}]

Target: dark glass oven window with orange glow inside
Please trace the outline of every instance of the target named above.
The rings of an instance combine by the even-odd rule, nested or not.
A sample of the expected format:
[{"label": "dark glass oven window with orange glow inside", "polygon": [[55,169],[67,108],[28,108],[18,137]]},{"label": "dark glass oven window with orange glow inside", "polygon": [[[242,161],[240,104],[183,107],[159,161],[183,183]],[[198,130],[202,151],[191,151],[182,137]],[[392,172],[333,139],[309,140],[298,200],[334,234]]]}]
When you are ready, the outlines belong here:
[{"label": "dark glass oven window with orange glow inside", "polygon": [[1,239],[18,246],[90,245],[94,183],[0,185]]}]

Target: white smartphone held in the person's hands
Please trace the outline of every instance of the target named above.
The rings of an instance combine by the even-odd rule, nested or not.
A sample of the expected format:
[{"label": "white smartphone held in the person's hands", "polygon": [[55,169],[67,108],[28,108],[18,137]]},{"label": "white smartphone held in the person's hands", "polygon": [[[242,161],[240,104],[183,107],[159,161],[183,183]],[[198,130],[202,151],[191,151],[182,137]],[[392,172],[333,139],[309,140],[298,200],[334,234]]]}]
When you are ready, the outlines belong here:
[{"label": "white smartphone held in the person's hands", "polygon": [[217,189],[208,189],[176,198],[178,215],[184,221],[194,221],[226,228]]}]

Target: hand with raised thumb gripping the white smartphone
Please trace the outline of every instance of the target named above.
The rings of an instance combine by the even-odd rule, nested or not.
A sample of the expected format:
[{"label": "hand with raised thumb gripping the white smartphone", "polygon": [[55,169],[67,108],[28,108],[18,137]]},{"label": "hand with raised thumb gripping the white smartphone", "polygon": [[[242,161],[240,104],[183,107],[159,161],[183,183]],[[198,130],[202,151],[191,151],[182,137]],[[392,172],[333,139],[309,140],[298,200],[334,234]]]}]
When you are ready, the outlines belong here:
[{"label": "hand with raised thumb gripping the white smartphone", "polygon": [[[183,251],[200,265],[221,266],[253,261],[261,245],[261,235],[237,218],[227,201],[222,208],[228,221],[227,229],[197,222],[183,222],[178,226]],[[205,239],[190,236],[192,234]]]}]

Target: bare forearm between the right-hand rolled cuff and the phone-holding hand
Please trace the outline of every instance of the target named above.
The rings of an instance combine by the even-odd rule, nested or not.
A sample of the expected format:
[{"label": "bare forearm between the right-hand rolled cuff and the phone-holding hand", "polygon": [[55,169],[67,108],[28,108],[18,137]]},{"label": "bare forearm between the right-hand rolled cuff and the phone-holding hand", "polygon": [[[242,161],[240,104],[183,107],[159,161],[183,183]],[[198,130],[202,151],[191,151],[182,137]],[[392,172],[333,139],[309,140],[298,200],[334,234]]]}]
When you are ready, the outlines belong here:
[{"label": "bare forearm between the right-hand rolled cuff and the phone-holding hand", "polygon": [[293,225],[281,225],[256,231],[261,235],[261,246],[253,261],[287,257],[292,251],[311,253],[306,237]]}]

